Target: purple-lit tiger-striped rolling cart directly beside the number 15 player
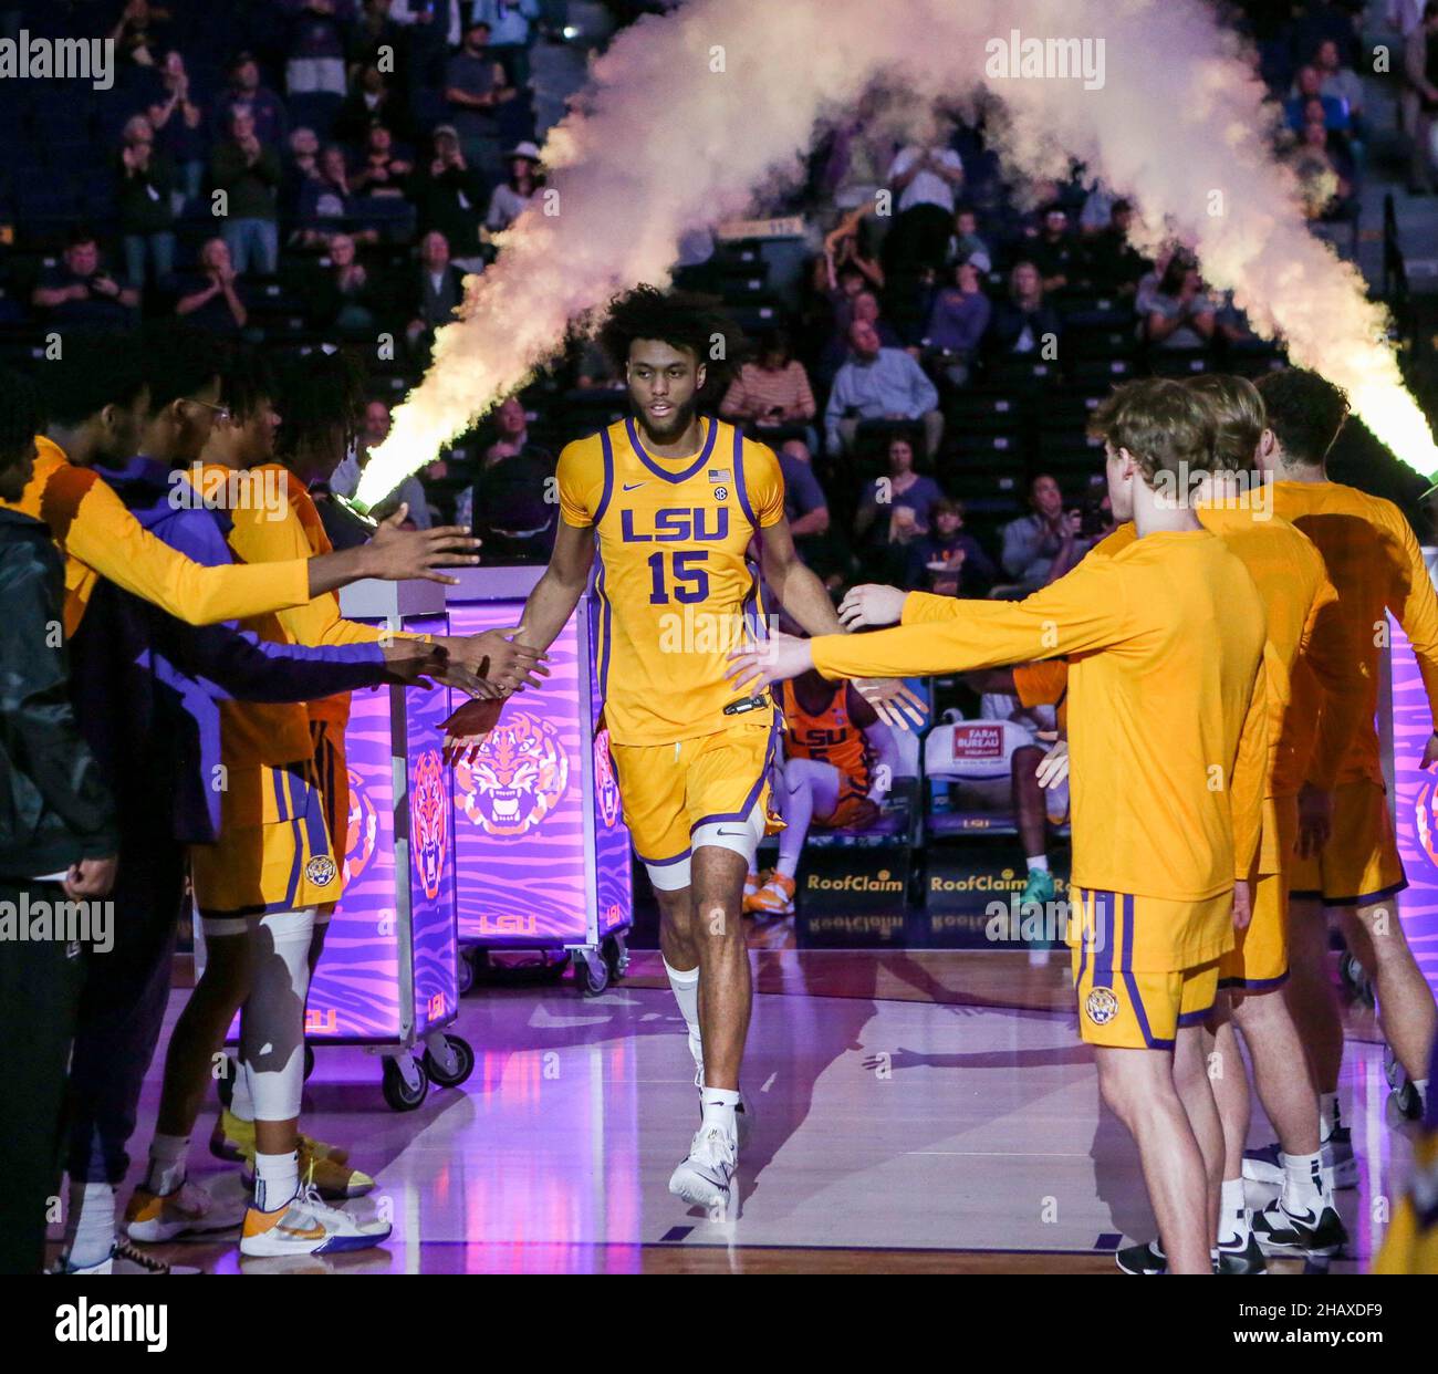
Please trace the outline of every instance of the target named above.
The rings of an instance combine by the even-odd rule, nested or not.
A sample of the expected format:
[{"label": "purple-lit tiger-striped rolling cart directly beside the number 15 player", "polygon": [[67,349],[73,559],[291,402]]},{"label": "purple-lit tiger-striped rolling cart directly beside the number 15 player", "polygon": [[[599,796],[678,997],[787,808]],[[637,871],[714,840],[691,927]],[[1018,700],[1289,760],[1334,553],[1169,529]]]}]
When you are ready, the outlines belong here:
[{"label": "purple-lit tiger-striped rolling cart directly beside the number 15 player", "polygon": [[[459,568],[450,632],[519,624],[541,567]],[[628,968],[628,827],[594,668],[598,599],[580,599],[549,649],[551,675],[512,696],[477,757],[454,768],[463,987],[490,951],[533,950],[597,997]]]}]

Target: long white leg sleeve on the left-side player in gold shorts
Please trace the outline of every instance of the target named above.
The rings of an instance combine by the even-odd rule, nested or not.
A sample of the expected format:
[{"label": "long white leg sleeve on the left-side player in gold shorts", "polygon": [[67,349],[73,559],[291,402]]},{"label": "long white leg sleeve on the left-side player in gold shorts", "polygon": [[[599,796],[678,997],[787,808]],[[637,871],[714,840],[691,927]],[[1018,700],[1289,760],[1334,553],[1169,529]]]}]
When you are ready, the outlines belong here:
[{"label": "long white leg sleeve on the left-side player in gold shorts", "polygon": [[313,931],[313,908],[275,912],[259,922],[255,977],[240,1013],[240,1063],[256,1121],[289,1121],[299,1115]]}]

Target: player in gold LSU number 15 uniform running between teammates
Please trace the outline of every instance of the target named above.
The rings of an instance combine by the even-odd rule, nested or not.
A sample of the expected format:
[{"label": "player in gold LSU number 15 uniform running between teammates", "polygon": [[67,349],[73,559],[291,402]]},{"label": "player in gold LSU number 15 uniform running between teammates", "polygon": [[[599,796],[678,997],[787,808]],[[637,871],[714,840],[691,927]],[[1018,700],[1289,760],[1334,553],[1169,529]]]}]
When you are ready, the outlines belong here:
[{"label": "player in gold LSU number 15 uniform running between teammates", "polygon": [[[812,634],[841,633],[823,583],[800,563],[784,479],[764,445],[700,416],[706,360],[731,327],[702,299],[638,286],[611,305],[600,342],[624,370],[633,414],[559,455],[554,555],[516,643],[545,650],[598,551],[604,721],[634,850],[660,906],[660,945],[689,1026],[702,1124],[670,1191],[718,1219],[738,1210],[739,1065],[749,1029],[743,881],[781,822],[769,807],[779,721],[768,692],[741,695],[726,655],[762,634],[759,574]],[[749,558],[758,544],[758,565]],[[919,718],[897,682],[866,685],[880,715]],[[464,711],[452,724],[469,732]],[[483,719],[476,704],[475,716]],[[463,747],[463,740],[459,741]]]}]

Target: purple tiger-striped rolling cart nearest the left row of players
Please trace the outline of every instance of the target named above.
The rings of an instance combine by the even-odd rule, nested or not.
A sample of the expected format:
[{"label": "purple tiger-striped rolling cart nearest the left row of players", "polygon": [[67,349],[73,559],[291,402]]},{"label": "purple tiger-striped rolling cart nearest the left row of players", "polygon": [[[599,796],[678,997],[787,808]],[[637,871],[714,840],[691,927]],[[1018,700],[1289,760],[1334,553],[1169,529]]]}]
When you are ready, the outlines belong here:
[{"label": "purple tiger-striped rolling cart nearest the left row of players", "polygon": [[[341,593],[354,620],[447,633],[434,583],[364,581]],[[400,686],[354,693],[345,895],[325,938],[305,1010],[305,1076],[315,1045],[355,1045],[383,1060],[381,1091],[413,1111],[433,1083],[457,1088],[475,1052],[446,1030],[459,1011],[454,807],[441,758],[449,692]],[[203,968],[203,939],[196,939]],[[239,1024],[230,1027],[236,1040]],[[418,1053],[417,1053],[418,1052]]]}]

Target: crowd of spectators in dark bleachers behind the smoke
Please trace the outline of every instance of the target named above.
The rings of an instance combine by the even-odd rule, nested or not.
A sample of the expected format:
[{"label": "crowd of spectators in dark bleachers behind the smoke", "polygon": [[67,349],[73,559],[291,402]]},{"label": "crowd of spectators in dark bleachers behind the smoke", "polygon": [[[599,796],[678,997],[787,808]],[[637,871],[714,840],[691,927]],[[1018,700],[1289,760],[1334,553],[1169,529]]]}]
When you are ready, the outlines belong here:
[{"label": "crowd of spectators in dark bleachers behind the smoke", "polygon": [[[623,22],[647,7],[611,9]],[[1234,12],[1320,232],[1356,216],[1356,9]],[[280,351],[351,344],[383,435],[464,273],[542,193],[532,50],[564,22],[552,0],[0,4],[12,30],[104,30],[119,52],[111,91],[0,83],[16,131],[0,144],[14,224],[0,351],[23,361],[56,327],[155,315]],[[812,226],[798,283],[771,282],[752,242],[686,252],[680,283],[722,296],[754,345],[709,403],[782,450],[791,519],[835,584],[1015,594],[1103,528],[1084,420],[1114,381],[1252,374],[1277,352],[1181,250],[1145,260],[1133,207],[1081,167],[1014,181],[982,111],[907,145],[883,115],[880,99],[860,106],[775,206]],[[542,560],[554,455],[621,409],[613,365],[577,344],[411,483],[416,518],[459,511],[492,557]]]}]

